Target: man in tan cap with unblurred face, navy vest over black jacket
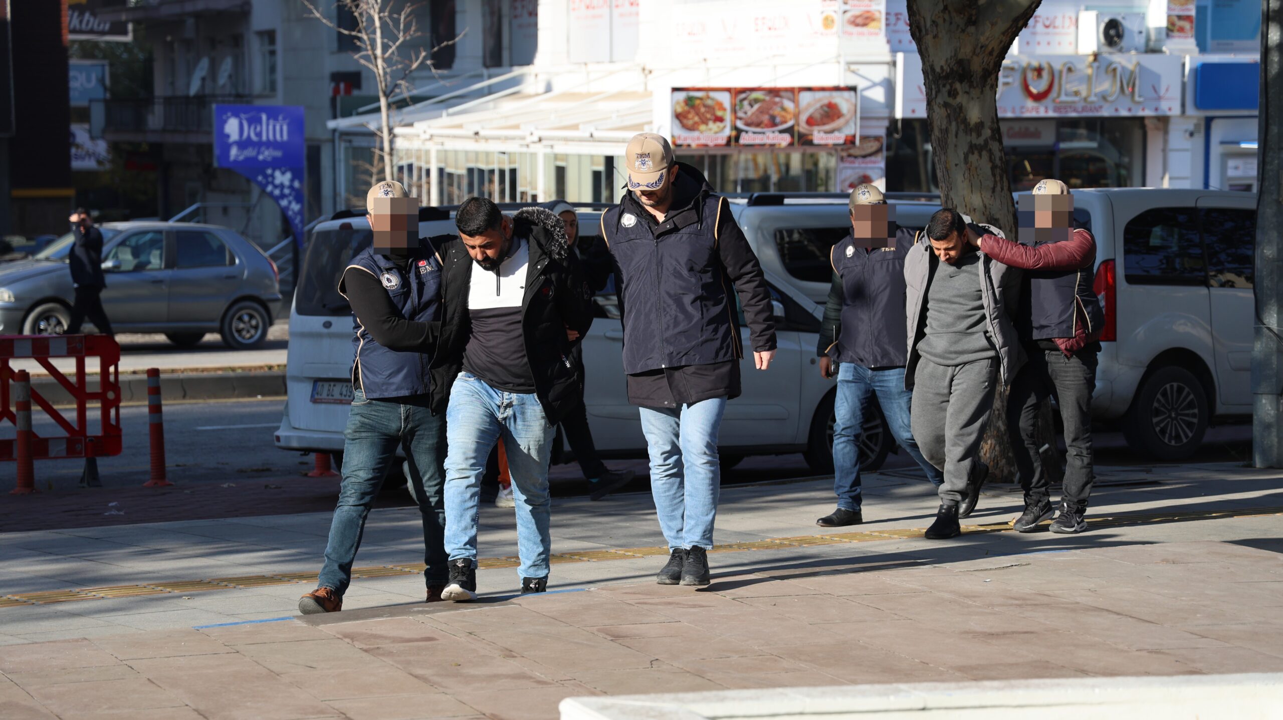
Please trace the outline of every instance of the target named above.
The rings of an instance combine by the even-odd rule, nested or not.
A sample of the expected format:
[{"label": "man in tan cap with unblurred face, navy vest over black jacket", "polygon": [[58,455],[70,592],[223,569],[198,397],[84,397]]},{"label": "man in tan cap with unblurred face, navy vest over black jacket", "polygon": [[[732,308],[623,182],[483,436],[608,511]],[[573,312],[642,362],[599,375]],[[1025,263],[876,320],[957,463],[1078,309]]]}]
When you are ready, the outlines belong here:
[{"label": "man in tan cap with unblurred face, navy vest over black jacket", "polygon": [[663,585],[707,585],[721,466],[717,430],[740,394],[735,296],[748,321],[753,364],[775,356],[771,294],[725,198],[643,132],[624,153],[629,193],[602,214],[620,279],[624,372],[640,406],[650,489],[668,542]]}]

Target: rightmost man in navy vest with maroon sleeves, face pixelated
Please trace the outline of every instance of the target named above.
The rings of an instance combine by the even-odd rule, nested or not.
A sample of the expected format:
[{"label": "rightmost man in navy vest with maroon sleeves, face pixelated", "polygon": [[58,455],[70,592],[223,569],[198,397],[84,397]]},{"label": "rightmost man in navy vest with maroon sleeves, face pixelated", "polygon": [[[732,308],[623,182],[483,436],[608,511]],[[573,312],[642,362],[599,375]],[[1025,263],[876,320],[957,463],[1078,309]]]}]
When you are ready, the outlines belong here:
[{"label": "rightmost man in navy vest with maroon sleeves, face pixelated", "polygon": [[1037,435],[1038,406],[1055,395],[1067,450],[1064,497],[1052,533],[1082,533],[1092,492],[1092,393],[1097,341],[1105,316],[1092,290],[1096,239],[1074,230],[1074,198],[1058,180],[1043,180],[1019,198],[1020,243],[967,231],[967,240],[993,259],[1025,271],[1016,331],[1029,362],[1011,382],[1007,426],[1025,511],[1015,527],[1032,533],[1052,517],[1048,479]]}]

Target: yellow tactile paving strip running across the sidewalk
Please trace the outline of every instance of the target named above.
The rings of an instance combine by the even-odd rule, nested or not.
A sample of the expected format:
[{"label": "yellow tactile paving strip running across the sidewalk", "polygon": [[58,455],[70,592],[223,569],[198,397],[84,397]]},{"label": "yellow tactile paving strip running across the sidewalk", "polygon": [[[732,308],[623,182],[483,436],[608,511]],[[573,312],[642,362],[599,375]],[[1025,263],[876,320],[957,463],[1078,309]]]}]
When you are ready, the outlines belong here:
[{"label": "yellow tactile paving strip running across the sidewalk", "polygon": [[[1153,522],[1179,522],[1183,520],[1207,520],[1220,517],[1261,517],[1268,515],[1283,515],[1283,507],[1257,507],[1238,510],[1196,510],[1185,512],[1159,512],[1138,515],[1102,515],[1088,517],[1087,524],[1096,527],[1112,527],[1120,525],[1148,525]],[[993,522],[985,525],[964,525],[964,534],[978,533],[1006,533],[1011,531],[1008,522]],[[726,543],[715,547],[711,552],[743,552],[743,551],[770,551],[781,548],[798,548],[808,545],[837,545],[844,543],[870,543],[875,540],[903,540],[921,538],[925,527],[907,527],[890,530],[860,530],[854,533],[834,533],[828,535],[797,535],[794,538],[770,538],[766,540],[753,540],[747,543]],[[666,547],[645,548],[611,548],[604,551],[567,552],[550,556],[556,563],[563,562],[602,562],[611,560],[636,560],[639,557],[668,554]],[[516,556],[484,557],[477,561],[477,567],[517,567],[521,560]],[[353,567],[353,578],[391,578],[402,575],[418,575],[423,572],[423,563],[405,565],[377,565],[372,567]],[[153,583],[146,585],[110,585],[103,588],[80,588],[74,590],[45,590],[40,593],[13,593],[0,596],[0,608],[30,604],[51,604],[59,602],[78,602],[89,599],[106,598],[132,598],[142,596],[159,596],[167,593],[199,593],[203,590],[226,590],[231,588],[262,588],[268,585],[291,585],[316,583],[316,572],[278,572],[272,575],[237,575],[232,578],[209,578],[207,580],[181,580],[174,583]]]}]

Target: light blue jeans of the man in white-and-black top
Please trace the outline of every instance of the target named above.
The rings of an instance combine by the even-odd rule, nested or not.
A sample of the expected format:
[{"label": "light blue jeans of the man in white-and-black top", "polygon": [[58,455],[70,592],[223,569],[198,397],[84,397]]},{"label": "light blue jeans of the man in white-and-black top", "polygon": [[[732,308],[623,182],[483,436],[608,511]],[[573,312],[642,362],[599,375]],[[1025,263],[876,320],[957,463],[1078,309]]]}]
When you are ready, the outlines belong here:
[{"label": "light blue jeans of the man in white-and-black top", "polygon": [[490,449],[503,439],[517,503],[517,554],[522,578],[547,578],[552,552],[548,458],[557,429],[539,397],[495,390],[461,372],[445,411],[445,552],[477,558],[477,495]]}]

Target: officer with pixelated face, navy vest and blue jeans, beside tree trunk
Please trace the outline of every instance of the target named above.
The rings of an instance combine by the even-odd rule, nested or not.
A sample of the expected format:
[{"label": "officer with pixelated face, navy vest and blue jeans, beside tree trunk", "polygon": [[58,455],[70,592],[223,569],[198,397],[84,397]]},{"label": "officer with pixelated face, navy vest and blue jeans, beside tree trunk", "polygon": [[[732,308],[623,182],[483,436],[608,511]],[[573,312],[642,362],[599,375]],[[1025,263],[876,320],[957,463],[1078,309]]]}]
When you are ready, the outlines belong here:
[{"label": "officer with pixelated face, navy vest and blue jeans, beside tree trunk", "polygon": [[[944,481],[913,440],[905,389],[908,352],[905,329],[905,254],[913,232],[896,226],[894,208],[881,190],[860,185],[851,191],[851,235],[829,253],[833,286],[820,330],[820,373],[834,376],[833,489],[838,508],[816,521],[821,527],[863,522],[860,493],[860,436],[871,397],[887,417],[890,434],[935,485]],[[973,503],[974,506],[974,503]]]}]

